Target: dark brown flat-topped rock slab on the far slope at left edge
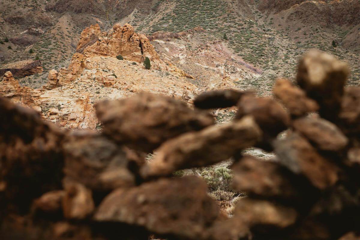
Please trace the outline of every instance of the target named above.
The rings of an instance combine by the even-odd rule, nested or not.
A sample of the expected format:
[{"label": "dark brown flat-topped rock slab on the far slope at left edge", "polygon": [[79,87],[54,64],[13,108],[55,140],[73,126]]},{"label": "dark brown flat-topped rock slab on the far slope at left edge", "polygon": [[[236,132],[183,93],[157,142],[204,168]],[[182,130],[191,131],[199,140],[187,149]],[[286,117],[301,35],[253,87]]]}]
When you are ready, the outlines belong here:
[{"label": "dark brown flat-topped rock slab on the far slope at left edge", "polygon": [[14,77],[22,78],[35,73],[43,71],[40,60],[22,60],[19,62],[8,63],[0,68],[0,78],[4,76],[4,73],[10,71]]}]

